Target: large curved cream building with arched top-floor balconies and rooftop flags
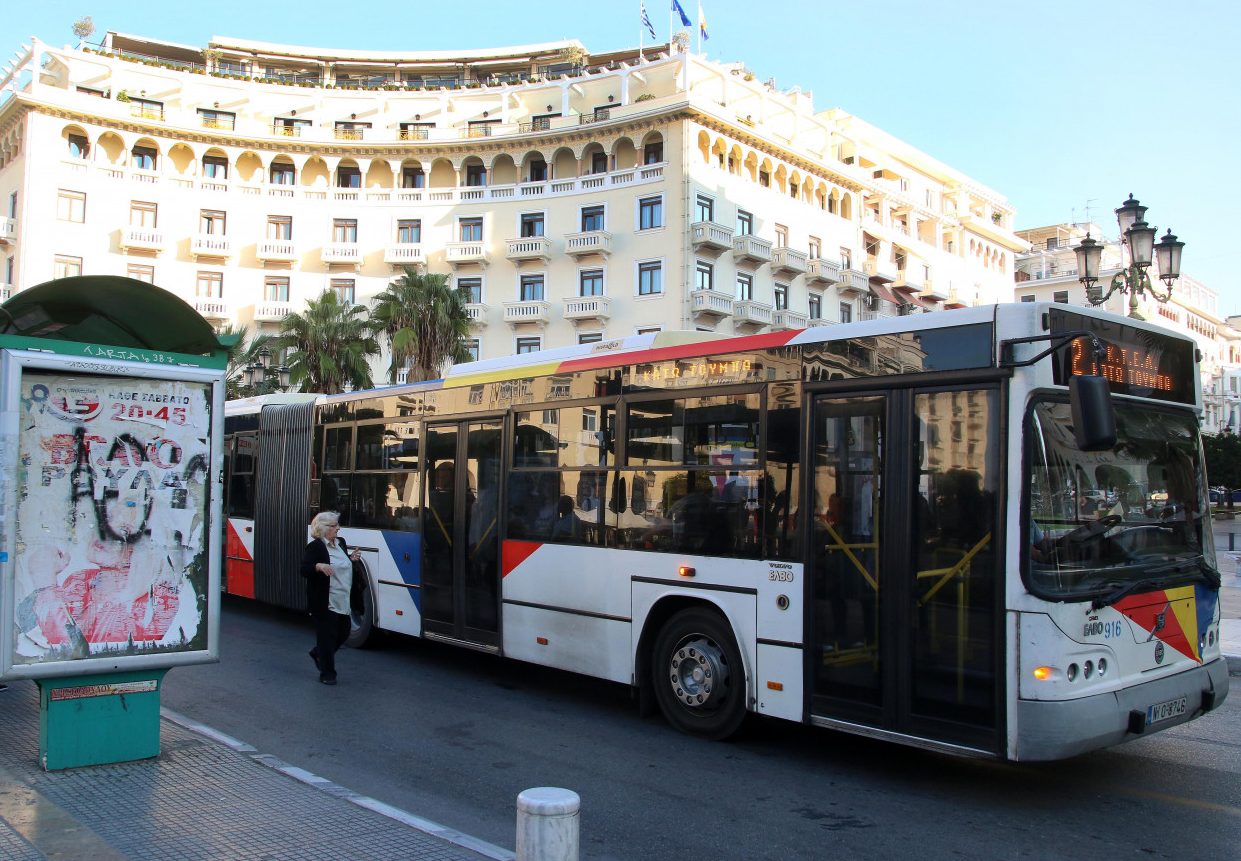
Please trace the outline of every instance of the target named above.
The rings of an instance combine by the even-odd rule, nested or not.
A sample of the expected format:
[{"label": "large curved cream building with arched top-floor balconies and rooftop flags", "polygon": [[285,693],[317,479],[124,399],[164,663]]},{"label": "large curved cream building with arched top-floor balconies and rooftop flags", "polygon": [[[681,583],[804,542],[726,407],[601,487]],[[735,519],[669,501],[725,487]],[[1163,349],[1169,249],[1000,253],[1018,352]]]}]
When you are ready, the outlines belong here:
[{"label": "large curved cream building with arched top-floor balconies and rooftop flags", "polygon": [[[666,46],[325,51],[109,32],[0,78],[4,290],[150,280],[274,329],[405,265],[482,357],[1011,298],[997,192],[808,93]],[[385,365],[386,366],[386,365]]]}]

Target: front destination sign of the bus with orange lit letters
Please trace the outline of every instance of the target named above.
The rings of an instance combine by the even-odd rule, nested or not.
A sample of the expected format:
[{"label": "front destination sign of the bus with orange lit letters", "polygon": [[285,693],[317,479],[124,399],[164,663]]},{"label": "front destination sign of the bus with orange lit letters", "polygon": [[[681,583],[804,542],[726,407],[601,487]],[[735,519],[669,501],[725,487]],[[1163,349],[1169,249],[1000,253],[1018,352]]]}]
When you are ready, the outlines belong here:
[{"label": "front destination sign of the bus with orange lit letters", "polygon": [[1073,339],[1054,362],[1056,385],[1066,386],[1073,376],[1097,375],[1116,395],[1195,402],[1194,344],[1188,339],[1060,309],[1051,311],[1051,331],[1090,331],[1103,347],[1100,356],[1090,339]]}]

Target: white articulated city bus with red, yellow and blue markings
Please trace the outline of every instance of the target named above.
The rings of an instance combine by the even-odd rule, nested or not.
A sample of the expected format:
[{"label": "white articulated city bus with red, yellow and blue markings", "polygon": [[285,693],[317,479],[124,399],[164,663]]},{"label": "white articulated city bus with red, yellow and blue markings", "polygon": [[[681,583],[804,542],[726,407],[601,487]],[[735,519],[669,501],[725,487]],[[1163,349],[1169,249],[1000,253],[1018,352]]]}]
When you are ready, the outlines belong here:
[{"label": "white articulated city bus with red, yellow and blue markings", "polygon": [[1227,695],[1199,411],[1191,341],[1054,304],[237,401],[226,591],[302,608],[339,511],[359,643],[608,679],[711,738],[1062,758]]}]

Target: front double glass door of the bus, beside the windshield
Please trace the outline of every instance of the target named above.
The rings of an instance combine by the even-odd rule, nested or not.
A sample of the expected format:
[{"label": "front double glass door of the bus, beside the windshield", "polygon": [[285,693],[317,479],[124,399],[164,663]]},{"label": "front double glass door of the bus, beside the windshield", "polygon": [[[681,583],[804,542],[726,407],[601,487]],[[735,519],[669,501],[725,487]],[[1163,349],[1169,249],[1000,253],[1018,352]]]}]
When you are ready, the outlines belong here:
[{"label": "front double glass door of the bus, beside the windshield", "polygon": [[812,430],[810,713],[999,747],[997,387],[819,396]]}]

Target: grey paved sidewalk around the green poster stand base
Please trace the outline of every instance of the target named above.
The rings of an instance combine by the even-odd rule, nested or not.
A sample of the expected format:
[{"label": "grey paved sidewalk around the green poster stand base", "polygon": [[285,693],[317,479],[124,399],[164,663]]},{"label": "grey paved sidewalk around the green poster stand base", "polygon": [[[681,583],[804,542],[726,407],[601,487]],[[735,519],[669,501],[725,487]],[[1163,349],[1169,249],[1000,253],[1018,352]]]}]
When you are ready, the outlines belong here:
[{"label": "grey paved sidewalk around the green poster stand base", "polygon": [[[38,689],[0,692],[0,859],[496,861],[513,852],[293,768],[166,711],[155,759],[43,772]],[[472,851],[473,850],[473,851]]]}]

